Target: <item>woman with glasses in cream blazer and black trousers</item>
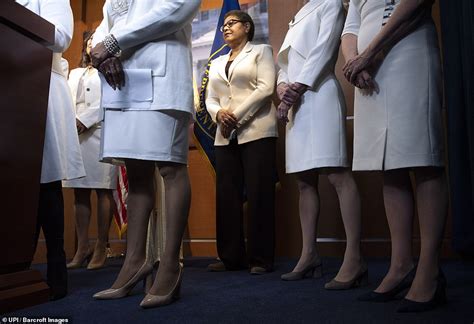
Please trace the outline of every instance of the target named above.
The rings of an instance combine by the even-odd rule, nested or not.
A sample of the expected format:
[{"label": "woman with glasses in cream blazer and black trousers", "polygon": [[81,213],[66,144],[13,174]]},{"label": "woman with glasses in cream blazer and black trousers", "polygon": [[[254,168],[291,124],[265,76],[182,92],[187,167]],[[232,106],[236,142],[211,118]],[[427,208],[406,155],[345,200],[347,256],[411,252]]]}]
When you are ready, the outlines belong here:
[{"label": "woman with glasses in cream blazer and black trousers", "polygon": [[254,31],[248,14],[228,12],[222,32],[231,51],[215,59],[209,71],[206,106],[217,123],[216,230],[222,260],[210,264],[210,271],[249,267],[250,273],[263,274],[273,269],[277,125],[270,97],[276,75],[271,47],[250,43]]}]

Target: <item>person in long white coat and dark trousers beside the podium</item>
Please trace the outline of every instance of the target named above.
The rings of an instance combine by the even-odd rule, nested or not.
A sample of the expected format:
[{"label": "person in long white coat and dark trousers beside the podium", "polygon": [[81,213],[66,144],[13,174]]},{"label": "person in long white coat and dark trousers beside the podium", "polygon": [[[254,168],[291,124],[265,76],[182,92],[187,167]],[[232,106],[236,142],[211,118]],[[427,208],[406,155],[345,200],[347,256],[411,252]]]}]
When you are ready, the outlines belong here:
[{"label": "person in long white coat and dark trousers beside the podium", "polygon": [[42,228],[48,252],[47,283],[51,288],[50,298],[58,299],[67,293],[61,180],[75,179],[85,175],[75,129],[74,107],[66,79],[65,63],[67,62],[61,58],[71,42],[73,17],[67,0],[18,0],[17,2],[48,20],[55,27],[54,45],[50,47],[53,51],[53,64],[36,236],[39,236]]}]

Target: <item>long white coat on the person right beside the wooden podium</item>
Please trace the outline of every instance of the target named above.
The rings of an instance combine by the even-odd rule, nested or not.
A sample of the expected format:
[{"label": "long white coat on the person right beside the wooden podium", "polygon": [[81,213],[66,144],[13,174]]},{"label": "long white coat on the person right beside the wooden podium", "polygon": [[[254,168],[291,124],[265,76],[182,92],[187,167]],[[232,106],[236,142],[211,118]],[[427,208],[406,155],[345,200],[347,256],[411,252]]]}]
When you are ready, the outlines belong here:
[{"label": "long white coat on the person right beside the wooden podium", "polygon": [[61,62],[61,53],[71,42],[74,21],[68,0],[18,0],[55,26],[50,46],[53,67],[49,87],[48,113],[41,167],[41,183],[85,176],[71,92]]}]

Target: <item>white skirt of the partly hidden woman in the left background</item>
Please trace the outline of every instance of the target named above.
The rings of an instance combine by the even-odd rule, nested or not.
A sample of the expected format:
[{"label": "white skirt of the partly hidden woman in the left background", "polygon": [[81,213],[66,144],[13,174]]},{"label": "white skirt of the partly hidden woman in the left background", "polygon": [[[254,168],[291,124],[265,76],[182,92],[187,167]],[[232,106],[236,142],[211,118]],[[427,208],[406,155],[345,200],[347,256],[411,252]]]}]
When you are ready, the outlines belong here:
[{"label": "white skirt of the partly hidden woman in the left background", "polygon": [[79,135],[86,176],[63,181],[66,188],[116,189],[117,167],[99,162],[100,127],[92,127]]}]

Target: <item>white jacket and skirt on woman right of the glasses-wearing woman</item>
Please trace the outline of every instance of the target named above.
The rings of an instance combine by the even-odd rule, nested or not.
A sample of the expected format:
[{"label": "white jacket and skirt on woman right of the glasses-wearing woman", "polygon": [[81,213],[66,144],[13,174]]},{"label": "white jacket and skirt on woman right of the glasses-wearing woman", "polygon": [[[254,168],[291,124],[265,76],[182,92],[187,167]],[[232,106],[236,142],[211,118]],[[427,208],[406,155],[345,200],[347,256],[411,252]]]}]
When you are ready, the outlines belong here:
[{"label": "white jacket and skirt on woman right of the glasses-wearing woman", "polygon": [[287,173],[347,166],[345,102],[334,75],[343,24],[340,0],[311,0],[290,22],[278,53],[278,84],[309,87],[289,111]]}]

